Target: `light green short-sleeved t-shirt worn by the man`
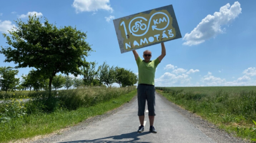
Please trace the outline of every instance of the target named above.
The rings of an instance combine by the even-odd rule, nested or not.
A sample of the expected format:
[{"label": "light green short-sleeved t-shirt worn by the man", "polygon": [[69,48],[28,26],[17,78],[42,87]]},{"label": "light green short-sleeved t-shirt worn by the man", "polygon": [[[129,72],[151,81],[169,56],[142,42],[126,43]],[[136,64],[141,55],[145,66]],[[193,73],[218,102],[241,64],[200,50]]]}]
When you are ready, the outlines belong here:
[{"label": "light green short-sleeved t-shirt worn by the man", "polygon": [[155,69],[160,63],[159,59],[150,60],[146,63],[140,57],[136,60],[139,70],[139,82],[138,84],[151,84],[155,85]]}]

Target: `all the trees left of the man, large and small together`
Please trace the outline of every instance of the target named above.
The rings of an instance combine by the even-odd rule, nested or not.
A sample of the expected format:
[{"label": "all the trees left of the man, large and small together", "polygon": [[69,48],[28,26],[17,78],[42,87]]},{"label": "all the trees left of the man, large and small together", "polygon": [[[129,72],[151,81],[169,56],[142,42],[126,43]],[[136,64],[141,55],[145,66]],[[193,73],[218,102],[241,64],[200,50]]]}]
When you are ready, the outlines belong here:
[{"label": "all the trees left of the man, large and small together", "polygon": [[[24,75],[24,87],[29,88],[26,81],[33,81],[33,89],[40,90],[47,83],[51,97],[52,83],[58,73],[73,74],[76,77],[83,75],[85,85],[111,86],[117,82],[120,86],[126,86],[136,83],[136,75],[129,70],[110,67],[106,63],[95,70],[95,63],[86,61],[86,57],[93,52],[90,44],[86,42],[87,35],[76,27],[58,28],[55,24],[50,24],[47,18],[42,22],[42,17],[36,15],[29,15],[28,21],[18,19],[15,22],[15,27],[8,34],[3,34],[9,46],[1,46],[0,53],[5,55],[4,62],[16,64],[15,69],[34,68],[28,75]],[[14,72],[13,74],[17,72],[11,67],[2,69]],[[120,75],[123,73],[125,75]],[[4,74],[6,73],[2,72],[1,90],[14,90],[18,79],[14,78],[14,83],[7,84],[14,80],[5,80]],[[128,78],[130,80],[124,80]]]}]

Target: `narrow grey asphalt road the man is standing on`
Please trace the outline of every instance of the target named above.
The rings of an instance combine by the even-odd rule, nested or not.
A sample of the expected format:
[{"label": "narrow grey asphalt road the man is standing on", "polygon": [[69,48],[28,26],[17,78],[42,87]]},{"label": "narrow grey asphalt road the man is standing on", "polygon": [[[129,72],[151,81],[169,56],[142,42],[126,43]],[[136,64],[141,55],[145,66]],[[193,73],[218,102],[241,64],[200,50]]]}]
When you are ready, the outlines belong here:
[{"label": "narrow grey asphalt road the man is standing on", "polygon": [[149,132],[147,113],[145,130],[137,133],[139,118],[137,100],[134,100],[115,114],[71,132],[53,143],[214,143],[213,139],[196,128],[168,102],[156,93],[155,134]]}]

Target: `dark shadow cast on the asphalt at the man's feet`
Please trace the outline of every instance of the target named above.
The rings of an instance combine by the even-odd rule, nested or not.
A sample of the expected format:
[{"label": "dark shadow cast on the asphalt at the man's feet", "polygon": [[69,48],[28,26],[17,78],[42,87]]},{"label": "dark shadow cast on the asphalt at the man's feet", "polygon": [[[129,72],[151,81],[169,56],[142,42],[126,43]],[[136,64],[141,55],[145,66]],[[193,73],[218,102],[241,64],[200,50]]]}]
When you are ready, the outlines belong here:
[{"label": "dark shadow cast on the asphalt at the man's feet", "polygon": [[[98,138],[98,139],[93,139],[93,140],[81,140],[81,141],[70,141],[70,142],[59,142],[59,143],[150,143],[150,142],[136,142],[140,138],[139,136],[143,136],[146,134],[149,134],[150,132],[143,132],[143,133],[137,133],[137,132],[131,132],[131,133],[126,133],[126,134],[121,134],[117,136],[110,136],[110,137],[105,137],[105,138]],[[111,139],[112,140],[104,140],[104,139]],[[115,140],[121,140],[121,139],[132,139],[129,141],[115,141]]]}]

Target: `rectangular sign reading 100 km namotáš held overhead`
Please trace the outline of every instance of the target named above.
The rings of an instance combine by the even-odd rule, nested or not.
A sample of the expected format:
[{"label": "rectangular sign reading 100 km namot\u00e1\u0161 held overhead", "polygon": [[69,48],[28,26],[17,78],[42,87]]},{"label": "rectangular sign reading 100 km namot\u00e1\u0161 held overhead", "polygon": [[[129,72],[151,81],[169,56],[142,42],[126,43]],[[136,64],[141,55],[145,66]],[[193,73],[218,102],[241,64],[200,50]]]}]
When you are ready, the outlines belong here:
[{"label": "rectangular sign reading 100 km namot\u00e1\u0161 held overhead", "polygon": [[113,20],[121,53],[181,38],[173,6]]}]

